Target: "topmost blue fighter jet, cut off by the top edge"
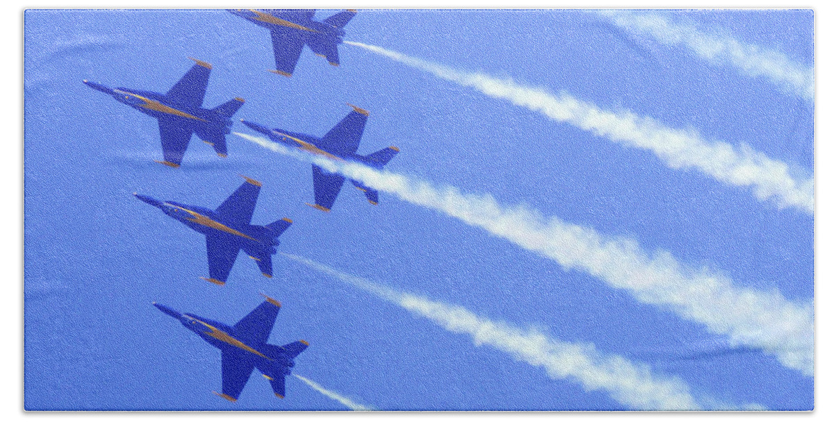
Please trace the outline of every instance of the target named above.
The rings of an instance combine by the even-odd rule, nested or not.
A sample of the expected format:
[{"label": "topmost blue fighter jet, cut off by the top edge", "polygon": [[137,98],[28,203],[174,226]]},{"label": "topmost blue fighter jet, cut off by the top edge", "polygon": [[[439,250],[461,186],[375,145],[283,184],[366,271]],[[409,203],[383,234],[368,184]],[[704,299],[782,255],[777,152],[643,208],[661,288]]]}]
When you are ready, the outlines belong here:
[{"label": "topmost blue fighter jet, cut off by the top edge", "polygon": [[344,37],[344,26],[356,14],[355,10],[345,10],[334,14],[322,22],[315,22],[315,9],[302,10],[229,10],[234,15],[249,22],[269,29],[272,35],[272,48],[275,54],[276,70],[285,77],[293,76],[295,63],[299,62],[304,44],[313,50],[316,56],[324,57],[333,66],[339,66],[339,49]]}]

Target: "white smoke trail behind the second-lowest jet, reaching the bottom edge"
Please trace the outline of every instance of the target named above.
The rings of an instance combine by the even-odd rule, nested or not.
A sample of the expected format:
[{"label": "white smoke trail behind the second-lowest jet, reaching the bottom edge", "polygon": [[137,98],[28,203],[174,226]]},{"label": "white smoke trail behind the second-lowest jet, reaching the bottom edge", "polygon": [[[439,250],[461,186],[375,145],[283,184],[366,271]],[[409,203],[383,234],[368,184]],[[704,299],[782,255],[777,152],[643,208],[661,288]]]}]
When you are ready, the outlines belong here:
[{"label": "white smoke trail behind the second-lowest jet, reaching the bottom edge", "polygon": [[[282,255],[428,318],[445,330],[470,335],[475,345],[490,345],[516,360],[542,367],[554,380],[574,381],[586,391],[605,390],[621,404],[637,410],[701,409],[689,387],[679,378],[652,374],[648,365],[631,362],[620,355],[600,353],[592,344],[569,343],[537,330],[522,330],[475,315],[459,305],[394,290],[301,256],[284,252]],[[728,409],[727,405],[718,406]]]}]

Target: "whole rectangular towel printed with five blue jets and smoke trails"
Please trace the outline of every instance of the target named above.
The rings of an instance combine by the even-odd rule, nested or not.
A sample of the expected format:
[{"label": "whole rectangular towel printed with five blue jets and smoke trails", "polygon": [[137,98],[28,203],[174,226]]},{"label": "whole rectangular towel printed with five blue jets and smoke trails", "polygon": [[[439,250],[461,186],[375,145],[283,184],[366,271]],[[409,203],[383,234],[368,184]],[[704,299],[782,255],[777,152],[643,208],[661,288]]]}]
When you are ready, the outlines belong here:
[{"label": "whole rectangular towel printed with five blue jets and smoke trails", "polygon": [[814,408],[811,10],[24,21],[26,410]]}]

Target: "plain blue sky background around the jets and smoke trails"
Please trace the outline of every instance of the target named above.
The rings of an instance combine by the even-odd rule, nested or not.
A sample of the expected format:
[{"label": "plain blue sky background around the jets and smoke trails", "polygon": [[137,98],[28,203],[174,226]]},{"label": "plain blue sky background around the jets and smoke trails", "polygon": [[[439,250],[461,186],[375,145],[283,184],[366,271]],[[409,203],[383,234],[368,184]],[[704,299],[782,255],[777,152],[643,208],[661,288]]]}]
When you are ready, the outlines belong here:
[{"label": "plain blue sky background around the jets and smoke trails", "polygon": [[[813,66],[811,12],[671,18]],[[592,13],[363,11],[347,30],[350,41],[569,92],[813,174],[813,102]],[[343,410],[292,378],[282,401],[256,377],[238,403],[218,400],[210,391],[219,389],[219,352],[150,305],[233,323],[260,291],[284,303],[272,342],[311,344],[296,372],[365,405],[628,408],[283,256],[272,280],[244,260],[224,287],[199,280],[208,271],[202,237],[130,193],[217,206],[239,173],[264,182],[255,224],[295,221],[280,251],[592,343],[683,380],[702,401],[813,406],[814,380],[774,356],[731,347],[703,325],[438,211],[385,194],[372,207],[351,189],[330,214],[304,206],[309,163],[242,138],[229,137],[226,160],[194,141],[180,169],[159,166],[156,122],[81,81],[164,92],[197,57],[214,65],[207,107],[244,97],[236,117],[314,135],[350,102],[371,112],[360,153],[401,149],[391,171],[525,203],[796,303],[813,299],[814,219],[806,212],[359,47],[340,47],[339,68],[304,52],[294,77],[277,77],[265,72],[274,66],[268,33],[228,12],[28,12],[25,42],[28,409]]]}]

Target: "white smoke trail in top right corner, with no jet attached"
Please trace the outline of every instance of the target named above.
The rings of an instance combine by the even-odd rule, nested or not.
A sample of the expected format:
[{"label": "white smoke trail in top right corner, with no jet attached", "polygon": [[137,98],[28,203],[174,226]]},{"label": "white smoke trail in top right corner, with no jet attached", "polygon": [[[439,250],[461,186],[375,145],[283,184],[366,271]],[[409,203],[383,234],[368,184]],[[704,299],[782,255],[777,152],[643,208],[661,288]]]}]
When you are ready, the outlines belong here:
[{"label": "white smoke trail in top right corner, with no jet attached", "polygon": [[700,32],[682,22],[671,22],[660,13],[600,10],[617,27],[654,38],[666,45],[682,45],[721,65],[736,67],[750,77],[766,77],[777,87],[806,100],[814,99],[814,68],[792,61],[784,53],[745,42],[729,35]]}]

